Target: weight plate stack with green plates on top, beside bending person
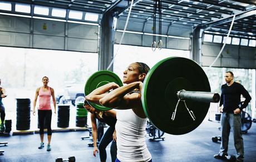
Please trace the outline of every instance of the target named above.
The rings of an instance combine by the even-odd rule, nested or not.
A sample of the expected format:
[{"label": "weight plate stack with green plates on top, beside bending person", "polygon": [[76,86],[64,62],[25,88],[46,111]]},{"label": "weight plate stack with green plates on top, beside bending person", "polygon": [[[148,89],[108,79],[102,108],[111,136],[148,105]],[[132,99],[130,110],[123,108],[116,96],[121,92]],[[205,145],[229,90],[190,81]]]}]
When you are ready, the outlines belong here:
[{"label": "weight plate stack with green plates on top, beside bending person", "polygon": [[87,126],[87,110],[83,107],[83,103],[76,104],[76,126]]}]

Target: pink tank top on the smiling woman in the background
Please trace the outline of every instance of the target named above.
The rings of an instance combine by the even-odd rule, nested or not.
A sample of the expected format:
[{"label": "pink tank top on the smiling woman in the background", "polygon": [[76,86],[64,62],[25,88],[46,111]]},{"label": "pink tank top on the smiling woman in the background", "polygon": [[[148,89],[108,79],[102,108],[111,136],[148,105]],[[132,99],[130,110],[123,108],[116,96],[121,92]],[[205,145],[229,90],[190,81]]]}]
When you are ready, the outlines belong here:
[{"label": "pink tank top on the smiling woman in the background", "polygon": [[51,88],[48,87],[48,90],[43,91],[42,87],[39,89],[39,108],[38,110],[51,110]]}]

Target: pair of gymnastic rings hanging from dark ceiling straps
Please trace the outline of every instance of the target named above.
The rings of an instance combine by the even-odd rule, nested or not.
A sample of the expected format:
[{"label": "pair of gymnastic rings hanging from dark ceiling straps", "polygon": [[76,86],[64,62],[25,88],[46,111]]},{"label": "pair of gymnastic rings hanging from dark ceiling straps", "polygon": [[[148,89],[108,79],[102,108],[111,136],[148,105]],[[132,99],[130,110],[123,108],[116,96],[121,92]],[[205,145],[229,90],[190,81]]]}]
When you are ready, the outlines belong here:
[{"label": "pair of gymnastic rings hanging from dark ceiling straps", "polygon": [[[161,9],[161,0],[154,0],[154,13],[153,13],[153,42],[151,48],[153,51],[158,48],[159,50],[163,47],[163,41],[161,40],[162,36],[162,9]],[[159,27],[158,27],[158,42],[156,43],[156,14],[159,15]]]}]

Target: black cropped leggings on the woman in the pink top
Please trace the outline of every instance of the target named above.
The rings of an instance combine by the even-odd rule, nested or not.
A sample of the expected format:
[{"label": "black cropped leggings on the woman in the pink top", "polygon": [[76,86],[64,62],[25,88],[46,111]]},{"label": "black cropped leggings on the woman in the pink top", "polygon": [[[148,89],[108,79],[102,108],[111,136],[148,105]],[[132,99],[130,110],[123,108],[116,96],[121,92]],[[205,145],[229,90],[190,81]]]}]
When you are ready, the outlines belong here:
[{"label": "black cropped leggings on the woman in the pink top", "polygon": [[43,134],[43,129],[45,129],[45,121],[46,121],[47,135],[52,135],[52,128],[51,128],[52,110],[38,110],[38,120],[40,125],[39,134]]}]

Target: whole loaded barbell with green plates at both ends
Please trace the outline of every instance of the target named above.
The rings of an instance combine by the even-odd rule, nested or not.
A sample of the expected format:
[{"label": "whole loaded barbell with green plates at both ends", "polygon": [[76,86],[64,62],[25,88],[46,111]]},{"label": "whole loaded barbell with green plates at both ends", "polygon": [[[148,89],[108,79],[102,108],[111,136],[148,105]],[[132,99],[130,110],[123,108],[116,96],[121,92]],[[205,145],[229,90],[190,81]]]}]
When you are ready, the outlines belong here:
[{"label": "whole loaded barbell with green plates at both ends", "polygon": [[[85,84],[85,95],[92,90],[120,78],[109,71],[91,75]],[[200,65],[191,59],[170,57],[161,60],[146,75],[141,102],[144,112],[165,133],[180,135],[197,128],[204,120],[210,103],[218,103],[220,95],[210,92],[209,80]],[[99,110],[110,110],[102,105],[89,104]]]}]

